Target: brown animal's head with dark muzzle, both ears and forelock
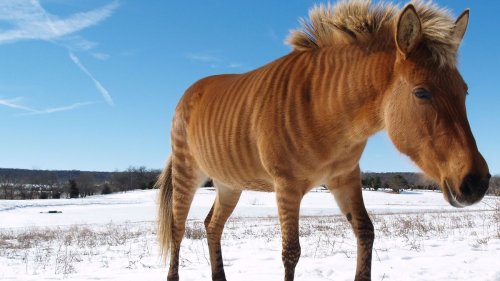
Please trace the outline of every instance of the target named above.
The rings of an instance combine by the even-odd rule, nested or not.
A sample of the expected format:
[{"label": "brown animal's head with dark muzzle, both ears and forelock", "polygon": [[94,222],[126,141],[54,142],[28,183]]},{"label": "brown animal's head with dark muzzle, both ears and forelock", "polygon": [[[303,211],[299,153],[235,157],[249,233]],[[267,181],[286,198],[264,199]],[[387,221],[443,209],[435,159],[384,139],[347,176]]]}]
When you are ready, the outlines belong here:
[{"label": "brown animal's head with dark muzzle, both ears and forelock", "polygon": [[443,13],[417,2],[396,18],[384,120],[395,146],[440,183],[451,205],[463,207],[483,198],[491,176],[467,120],[467,84],[456,67],[469,11],[456,21]]}]

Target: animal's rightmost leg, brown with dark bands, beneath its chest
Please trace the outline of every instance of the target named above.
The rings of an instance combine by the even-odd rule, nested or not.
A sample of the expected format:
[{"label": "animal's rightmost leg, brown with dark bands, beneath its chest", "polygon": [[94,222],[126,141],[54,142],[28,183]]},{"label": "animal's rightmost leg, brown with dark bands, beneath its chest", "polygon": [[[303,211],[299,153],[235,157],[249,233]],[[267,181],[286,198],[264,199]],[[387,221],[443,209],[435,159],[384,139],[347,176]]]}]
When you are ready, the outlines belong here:
[{"label": "animal's rightmost leg, brown with dark bands, beneath its chest", "polygon": [[373,224],[368,216],[361,193],[361,173],[359,167],[353,172],[336,177],[328,184],[328,189],[342,213],[351,223],[358,244],[355,281],[371,280],[372,247],[375,238]]}]

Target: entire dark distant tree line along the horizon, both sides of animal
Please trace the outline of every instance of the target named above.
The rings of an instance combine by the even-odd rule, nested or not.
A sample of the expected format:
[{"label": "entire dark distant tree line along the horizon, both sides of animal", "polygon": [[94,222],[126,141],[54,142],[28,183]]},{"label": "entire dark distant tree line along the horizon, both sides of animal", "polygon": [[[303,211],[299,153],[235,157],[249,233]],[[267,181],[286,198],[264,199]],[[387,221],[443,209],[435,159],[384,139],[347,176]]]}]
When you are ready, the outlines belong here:
[{"label": "entire dark distant tree line along the horizon, both sides of animal", "polygon": [[[124,171],[43,171],[0,168],[0,199],[81,198],[94,194],[151,189],[160,170],[129,167]],[[212,186],[211,181],[204,186]],[[364,189],[439,190],[439,185],[419,173],[370,173],[361,177]],[[488,194],[500,196],[500,177],[490,181]]]}]

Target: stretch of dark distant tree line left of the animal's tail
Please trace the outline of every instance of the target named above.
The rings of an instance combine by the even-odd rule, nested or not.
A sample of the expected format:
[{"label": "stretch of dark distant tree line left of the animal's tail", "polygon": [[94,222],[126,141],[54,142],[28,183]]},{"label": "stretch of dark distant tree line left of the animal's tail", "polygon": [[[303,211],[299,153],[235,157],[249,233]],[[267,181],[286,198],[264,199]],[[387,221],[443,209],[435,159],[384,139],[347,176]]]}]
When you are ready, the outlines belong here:
[{"label": "stretch of dark distant tree line left of the animal's tail", "polygon": [[0,199],[82,198],[151,189],[159,173],[146,167],[115,172],[0,169]]}]

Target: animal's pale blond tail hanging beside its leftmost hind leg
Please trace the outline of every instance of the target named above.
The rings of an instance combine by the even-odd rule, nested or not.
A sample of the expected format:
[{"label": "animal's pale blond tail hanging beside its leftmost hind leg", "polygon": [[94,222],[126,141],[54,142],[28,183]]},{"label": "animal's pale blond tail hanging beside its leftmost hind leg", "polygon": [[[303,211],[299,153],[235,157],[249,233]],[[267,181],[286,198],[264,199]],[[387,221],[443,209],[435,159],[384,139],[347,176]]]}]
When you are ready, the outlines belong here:
[{"label": "animal's pale blond tail hanging beside its leftmost hind leg", "polygon": [[158,177],[155,184],[160,188],[158,206],[158,241],[160,242],[160,254],[166,263],[168,254],[172,247],[172,158],[168,160],[167,166]]}]

